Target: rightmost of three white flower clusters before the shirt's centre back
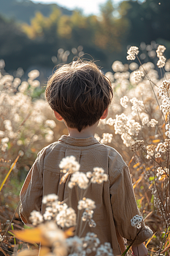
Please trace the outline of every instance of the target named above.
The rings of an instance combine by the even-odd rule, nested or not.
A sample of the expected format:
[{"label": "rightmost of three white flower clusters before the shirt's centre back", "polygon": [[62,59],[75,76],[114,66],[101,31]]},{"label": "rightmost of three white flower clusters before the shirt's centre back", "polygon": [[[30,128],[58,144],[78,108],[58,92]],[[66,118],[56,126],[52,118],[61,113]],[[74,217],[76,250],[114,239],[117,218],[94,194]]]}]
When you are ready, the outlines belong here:
[{"label": "rightmost of three white flower clusters before the shirt's centre back", "polygon": [[95,167],[93,172],[87,172],[87,177],[91,179],[91,183],[101,184],[108,180],[108,175],[104,173],[103,168]]}]

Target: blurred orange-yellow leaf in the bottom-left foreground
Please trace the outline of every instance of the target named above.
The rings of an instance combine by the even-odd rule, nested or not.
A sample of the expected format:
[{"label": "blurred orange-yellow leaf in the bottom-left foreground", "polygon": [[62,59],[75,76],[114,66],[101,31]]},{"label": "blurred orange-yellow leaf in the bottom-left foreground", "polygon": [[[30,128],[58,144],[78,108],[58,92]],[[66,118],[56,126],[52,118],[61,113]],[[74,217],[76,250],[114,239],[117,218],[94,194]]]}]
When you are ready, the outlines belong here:
[{"label": "blurred orange-yellow leaf in the bottom-left foreground", "polygon": [[40,243],[41,245],[48,246],[48,240],[42,237],[42,231],[40,228],[25,229],[25,230],[14,230],[16,238],[28,243]]}]

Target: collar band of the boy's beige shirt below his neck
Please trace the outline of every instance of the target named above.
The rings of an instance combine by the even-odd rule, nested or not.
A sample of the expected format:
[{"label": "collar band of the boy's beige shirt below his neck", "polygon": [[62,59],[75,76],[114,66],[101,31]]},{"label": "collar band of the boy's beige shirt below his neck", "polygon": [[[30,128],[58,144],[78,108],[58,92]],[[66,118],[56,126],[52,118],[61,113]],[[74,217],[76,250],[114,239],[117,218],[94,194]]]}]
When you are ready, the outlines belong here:
[{"label": "collar band of the boy's beige shirt below his neck", "polygon": [[73,146],[89,146],[92,144],[97,144],[100,143],[97,141],[95,137],[89,137],[86,139],[78,139],[78,138],[73,138],[67,135],[62,135],[61,138],[58,139],[58,141],[65,142],[67,144],[71,144]]}]

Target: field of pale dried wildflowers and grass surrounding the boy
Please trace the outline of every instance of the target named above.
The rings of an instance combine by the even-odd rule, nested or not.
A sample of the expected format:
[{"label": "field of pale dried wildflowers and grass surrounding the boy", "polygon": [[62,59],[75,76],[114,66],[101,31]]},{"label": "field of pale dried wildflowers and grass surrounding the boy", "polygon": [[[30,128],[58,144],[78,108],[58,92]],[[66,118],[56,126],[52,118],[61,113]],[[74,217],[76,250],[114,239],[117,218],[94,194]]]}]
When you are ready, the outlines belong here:
[{"label": "field of pale dried wildflowers and grass surrounding the boy", "polygon": [[[145,225],[154,233],[146,241],[148,254],[169,255],[170,61],[165,57],[164,46],[155,44],[152,48],[157,55],[154,59],[154,63],[157,59],[156,65],[151,62],[142,64],[139,58],[142,50],[131,47],[127,63],[114,61],[113,72],[105,73],[112,82],[114,99],[107,119],[100,120],[95,137],[100,143],[115,148],[129,167],[138,208]],[[27,81],[21,81],[19,77],[6,75],[4,67],[1,60],[0,255],[38,255],[36,247],[40,241],[41,256],[88,255],[92,248],[95,248],[96,255],[112,255],[109,245],[99,247],[96,237],[91,237],[91,243],[88,236],[88,242],[75,236],[71,240],[69,237],[73,236],[73,229],[70,227],[76,225],[76,221],[62,232],[57,227],[62,226],[61,223],[54,222],[54,212],[51,215],[46,213],[48,217],[44,219],[40,213],[32,215],[33,226],[36,226],[32,229],[20,221],[19,207],[16,212],[15,209],[20,189],[37,153],[57,141],[62,134],[67,135],[67,129],[63,122],[54,118],[46,104],[44,85],[38,80],[39,71],[29,72]],[[71,167],[65,165],[61,169],[73,174],[75,166],[73,160]],[[101,182],[105,179],[101,174]],[[57,201],[55,197],[44,200],[49,207]],[[80,218],[79,215],[77,217]],[[84,221],[91,221],[95,233],[92,218]],[[50,232],[53,232],[53,239]]]}]

